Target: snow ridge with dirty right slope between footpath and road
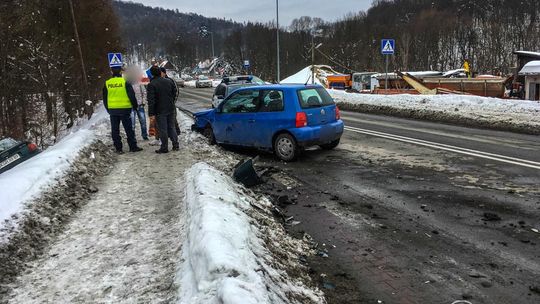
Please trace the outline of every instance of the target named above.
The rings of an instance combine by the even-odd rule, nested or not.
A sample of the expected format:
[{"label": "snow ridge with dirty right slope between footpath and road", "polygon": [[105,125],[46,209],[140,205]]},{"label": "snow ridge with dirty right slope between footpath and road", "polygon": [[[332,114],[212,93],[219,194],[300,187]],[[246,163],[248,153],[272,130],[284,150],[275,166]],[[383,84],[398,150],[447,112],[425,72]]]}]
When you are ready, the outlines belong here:
[{"label": "snow ridge with dirty right slope between footpath and road", "polygon": [[206,163],[186,180],[180,303],[325,303],[297,260],[310,249],[286,235],[267,199]]}]

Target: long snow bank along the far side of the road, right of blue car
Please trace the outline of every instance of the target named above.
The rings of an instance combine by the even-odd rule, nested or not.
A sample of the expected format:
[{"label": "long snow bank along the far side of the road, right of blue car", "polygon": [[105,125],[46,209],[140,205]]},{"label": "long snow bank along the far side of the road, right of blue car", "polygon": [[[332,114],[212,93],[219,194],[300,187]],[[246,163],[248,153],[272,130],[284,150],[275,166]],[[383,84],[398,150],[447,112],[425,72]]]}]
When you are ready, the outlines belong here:
[{"label": "long snow bank along the far side of the road, right of blue car", "polygon": [[374,95],[328,90],[343,110],[540,134],[540,103],[470,95]]}]

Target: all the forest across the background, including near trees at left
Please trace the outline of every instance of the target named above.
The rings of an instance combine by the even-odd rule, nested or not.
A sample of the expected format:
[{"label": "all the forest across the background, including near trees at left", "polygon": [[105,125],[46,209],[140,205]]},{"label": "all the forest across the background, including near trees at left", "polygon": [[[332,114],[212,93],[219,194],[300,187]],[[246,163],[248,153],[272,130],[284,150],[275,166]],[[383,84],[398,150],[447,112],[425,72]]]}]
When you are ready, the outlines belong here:
[{"label": "all the forest across the background, including near trees at left", "polygon": [[[107,52],[189,68],[212,56],[213,38],[215,55],[237,72],[249,59],[253,74],[276,79],[272,23],[113,0],[6,0],[0,20],[0,137],[47,145],[88,116],[86,101],[101,99],[110,75]],[[394,38],[391,69],[448,70],[468,59],[476,72],[507,74],[515,65],[512,51],[540,51],[540,1],[375,0],[366,12],[336,22],[299,16],[280,27],[280,37],[281,78],[311,64],[312,39],[322,43],[316,63],[342,72],[382,71],[380,39]]]}]

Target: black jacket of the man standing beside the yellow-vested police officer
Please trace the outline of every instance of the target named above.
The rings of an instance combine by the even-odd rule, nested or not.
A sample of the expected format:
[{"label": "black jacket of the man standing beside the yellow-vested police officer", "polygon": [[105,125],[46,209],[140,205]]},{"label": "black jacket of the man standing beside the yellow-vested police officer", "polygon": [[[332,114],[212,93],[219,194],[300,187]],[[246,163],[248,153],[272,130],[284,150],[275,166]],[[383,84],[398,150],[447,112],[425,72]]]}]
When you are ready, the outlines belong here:
[{"label": "black jacket of the man standing beside the yellow-vested police officer", "polygon": [[148,115],[172,114],[176,110],[174,105],[176,88],[171,81],[154,77],[146,88],[146,100],[148,101]]}]

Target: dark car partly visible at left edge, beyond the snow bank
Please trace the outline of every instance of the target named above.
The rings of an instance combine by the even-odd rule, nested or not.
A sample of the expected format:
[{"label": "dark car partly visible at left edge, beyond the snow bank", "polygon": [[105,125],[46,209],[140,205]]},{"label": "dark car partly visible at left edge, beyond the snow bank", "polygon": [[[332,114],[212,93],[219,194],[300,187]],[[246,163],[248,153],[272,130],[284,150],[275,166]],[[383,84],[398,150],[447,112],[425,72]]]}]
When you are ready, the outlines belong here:
[{"label": "dark car partly visible at left edge, beyond the snow bank", "polygon": [[0,173],[15,167],[39,152],[33,143],[18,141],[10,137],[0,140]]}]

